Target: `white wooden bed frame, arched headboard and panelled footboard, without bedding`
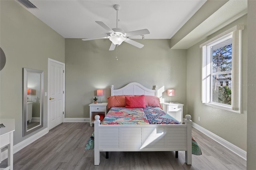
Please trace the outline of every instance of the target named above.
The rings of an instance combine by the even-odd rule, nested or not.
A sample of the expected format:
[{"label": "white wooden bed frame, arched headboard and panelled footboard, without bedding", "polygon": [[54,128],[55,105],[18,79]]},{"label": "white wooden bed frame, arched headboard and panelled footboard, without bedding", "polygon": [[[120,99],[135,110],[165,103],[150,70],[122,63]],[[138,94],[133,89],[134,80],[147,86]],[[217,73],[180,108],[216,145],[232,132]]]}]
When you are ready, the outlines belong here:
[{"label": "white wooden bed frame, arched headboard and panelled footboard, without bedding", "polygon": [[[113,95],[157,95],[140,83],[130,83],[121,89],[111,86]],[[192,164],[192,121],[186,115],[180,125],[100,125],[94,121],[94,165],[100,164],[100,152],[185,151],[186,164]]]}]

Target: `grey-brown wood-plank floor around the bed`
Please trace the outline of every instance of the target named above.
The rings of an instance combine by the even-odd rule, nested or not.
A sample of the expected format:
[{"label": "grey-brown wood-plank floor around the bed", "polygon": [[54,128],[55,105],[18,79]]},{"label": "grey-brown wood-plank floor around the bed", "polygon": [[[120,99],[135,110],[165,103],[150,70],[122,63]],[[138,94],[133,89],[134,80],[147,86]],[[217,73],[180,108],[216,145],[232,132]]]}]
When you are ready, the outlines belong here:
[{"label": "grey-brown wood-plank floor around the bed", "polygon": [[62,123],[15,153],[14,170],[246,170],[245,160],[194,128],[202,155],[192,155],[192,165],[183,151],[179,158],[175,152],[109,152],[108,159],[101,152],[94,166],[94,150],[84,152],[93,130],[89,123]]}]

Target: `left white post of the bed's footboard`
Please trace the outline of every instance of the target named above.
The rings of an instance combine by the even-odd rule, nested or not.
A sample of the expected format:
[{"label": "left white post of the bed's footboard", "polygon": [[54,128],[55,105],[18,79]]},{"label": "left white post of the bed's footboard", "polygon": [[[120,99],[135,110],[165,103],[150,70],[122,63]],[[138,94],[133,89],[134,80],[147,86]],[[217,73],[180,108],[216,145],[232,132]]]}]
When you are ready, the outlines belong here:
[{"label": "left white post of the bed's footboard", "polygon": [[99,151],[99,125],[100,116],[96,115],[94,121],[94,165],[100,164],[100,151]]}]

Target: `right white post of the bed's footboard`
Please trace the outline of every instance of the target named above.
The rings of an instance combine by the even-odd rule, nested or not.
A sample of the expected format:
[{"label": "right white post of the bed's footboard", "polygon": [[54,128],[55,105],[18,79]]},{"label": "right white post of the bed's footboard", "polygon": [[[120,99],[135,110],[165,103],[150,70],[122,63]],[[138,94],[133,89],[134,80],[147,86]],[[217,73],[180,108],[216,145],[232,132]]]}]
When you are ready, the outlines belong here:
[{"label": "right white post of the bed's footboard", "polygon": [[185,116],[185,124],[187,125],[187,150],[185,151],[185,161],[188,165],[192,164],[192,121],[190,115]]}]

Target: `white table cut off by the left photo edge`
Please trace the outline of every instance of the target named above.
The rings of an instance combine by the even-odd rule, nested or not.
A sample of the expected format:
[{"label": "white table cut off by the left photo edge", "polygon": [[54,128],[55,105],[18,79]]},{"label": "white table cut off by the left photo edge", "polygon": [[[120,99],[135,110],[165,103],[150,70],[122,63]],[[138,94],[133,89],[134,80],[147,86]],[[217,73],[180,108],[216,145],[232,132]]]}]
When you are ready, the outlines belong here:
[{"label": "white table cut off by the left photo edge", "polygon": [[[15,130],[15,120],[0,119],[0,124],[3,124],[5,126],[4,128],[0,128],[0,148],[8,146],[8,166],[3,169],[13,170],[13,132]],[[0,162],[1,162],[1,151],[0,151]]]}]

